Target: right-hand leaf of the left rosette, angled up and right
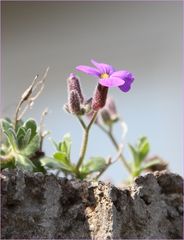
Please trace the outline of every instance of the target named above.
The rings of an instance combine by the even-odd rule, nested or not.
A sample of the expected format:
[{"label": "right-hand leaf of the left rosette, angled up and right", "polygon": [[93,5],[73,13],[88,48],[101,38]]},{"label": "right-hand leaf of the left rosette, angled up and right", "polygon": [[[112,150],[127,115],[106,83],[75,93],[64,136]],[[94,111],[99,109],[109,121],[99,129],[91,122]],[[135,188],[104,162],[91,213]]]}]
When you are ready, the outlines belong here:
[{"label": "right-hand leaf of the left rosette, angled up and right", "polygon": [[31,157],[35,154],[37,150],[40,148],[40,136],[36,134],[34,138],[29,142],[29,144],[21,150],[21,154]]}]

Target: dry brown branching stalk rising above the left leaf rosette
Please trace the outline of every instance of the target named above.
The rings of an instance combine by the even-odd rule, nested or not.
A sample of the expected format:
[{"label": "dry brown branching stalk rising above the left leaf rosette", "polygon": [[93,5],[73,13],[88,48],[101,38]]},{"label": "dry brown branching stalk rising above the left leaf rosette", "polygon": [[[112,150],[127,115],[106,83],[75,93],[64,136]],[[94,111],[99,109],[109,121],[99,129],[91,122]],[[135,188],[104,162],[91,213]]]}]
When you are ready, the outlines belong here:
[{"label": "dry brown branching stalk rising above the left leaf rosette", "polygon": [[[33,106],[34,101],[39,97],[39,95],[43,91],[48,71],[49,67],[45,70],[45,73],[40,80],[38,80],[38,75],[36,75],[31,85],[22,94],[15,111],[14,122],[15,127],[17,125],[17,122],[23,117],[26,111]],[[25,104],[24,108],[23,104]]]}]

